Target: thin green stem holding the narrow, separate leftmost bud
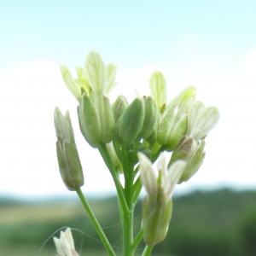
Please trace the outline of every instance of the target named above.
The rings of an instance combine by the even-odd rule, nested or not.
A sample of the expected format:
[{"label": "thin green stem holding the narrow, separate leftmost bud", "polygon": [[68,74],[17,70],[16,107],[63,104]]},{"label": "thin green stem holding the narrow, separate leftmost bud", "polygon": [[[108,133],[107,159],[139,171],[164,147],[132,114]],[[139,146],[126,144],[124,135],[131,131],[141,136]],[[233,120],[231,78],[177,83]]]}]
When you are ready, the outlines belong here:
[{"label": "thin green stem holding the narrow, separate leftmost bud", "polygon": [[115,253],[113,252],[113,248],[111,247],[111,245],[110,245],[110,243],[109,243],[109,241],[108,241],[107,236],[105,236],[105,234],[104,234],[104,232],[103,232],[103,230],[102,230],[101,225],[100,225],[99,222],[97,221],[96,216],[95,216],[94,213],[92,212],[88,201],[86,201],[82,190],[79,188],[79,189],[76,189],[76,192],[78,193],[79,198],[80,198],[80,201],[82,201],[83,206],[84,206],[84,209],[85,209],[86,212],[88,213],[92,224],[94,224],[94,227],[95,227],[95,229],[96,229],[98,235],[101,237],[102,243],[103,243],[103,245],[105,246],[106,250],[108,251],[108,254],[109,254],[110,256],[115,256]]}]

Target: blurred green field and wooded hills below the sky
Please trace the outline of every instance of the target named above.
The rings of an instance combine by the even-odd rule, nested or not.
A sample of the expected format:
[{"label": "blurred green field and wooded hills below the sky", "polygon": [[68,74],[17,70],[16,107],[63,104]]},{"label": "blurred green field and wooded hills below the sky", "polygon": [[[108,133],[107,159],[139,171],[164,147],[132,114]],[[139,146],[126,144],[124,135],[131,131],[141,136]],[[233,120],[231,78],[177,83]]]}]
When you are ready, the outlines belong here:
[{"label": "blurred green field and wooded hills below the sky", "polygon": [[[90,205],[117,256],[121,255],[116,198],[90,200]],[[154,247],[152,255],[256,255],[256,191],[197,191],[175,197],[173,205],[166,240]],[[141,225],[141,207],[139,201],[134,218],[135,235]],[[108,255],[79,201],[33,203],[0,197],[0,255],[55,256],[52,235],[67,226],[77,229],[73,230],[73,237],[81,256]],[[55,236],[59,235],[57,231]],[[141,242],[136,256],[142,254],[143,246]]]}]

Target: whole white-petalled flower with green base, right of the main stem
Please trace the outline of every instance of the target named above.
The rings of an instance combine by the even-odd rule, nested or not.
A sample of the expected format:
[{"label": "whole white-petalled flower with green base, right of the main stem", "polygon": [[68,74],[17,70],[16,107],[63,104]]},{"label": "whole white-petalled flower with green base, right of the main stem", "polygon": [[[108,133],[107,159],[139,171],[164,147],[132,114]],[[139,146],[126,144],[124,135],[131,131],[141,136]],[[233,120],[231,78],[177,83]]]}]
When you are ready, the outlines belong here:
[{"label": "whole white-petalled flower with green base, right of the main stem", "polygon": [[159,175],[156,178],[148,157],[138,153],[138,159],[141,181],[148,193],[143,201],[143,238],[146,244],[154,246],[166,238],[172,218],[172,193],[186,162],[177,160],[167,171],[165,156],[161,154],[158,161]]}]

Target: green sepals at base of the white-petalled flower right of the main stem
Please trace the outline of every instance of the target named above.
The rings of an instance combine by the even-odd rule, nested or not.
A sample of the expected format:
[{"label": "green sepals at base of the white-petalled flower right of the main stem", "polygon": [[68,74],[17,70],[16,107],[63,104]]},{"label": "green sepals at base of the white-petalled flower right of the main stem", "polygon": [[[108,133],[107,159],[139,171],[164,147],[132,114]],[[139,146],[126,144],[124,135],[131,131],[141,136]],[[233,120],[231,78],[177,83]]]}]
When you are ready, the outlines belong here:
[{"label": "green sepals at base of the white-petalled flower right of the main stem", "polygon": [[146,244],[154,246],[166,238],[172,218],[172,200],[155,202],[150,196],[143,201],[143,238]]}]

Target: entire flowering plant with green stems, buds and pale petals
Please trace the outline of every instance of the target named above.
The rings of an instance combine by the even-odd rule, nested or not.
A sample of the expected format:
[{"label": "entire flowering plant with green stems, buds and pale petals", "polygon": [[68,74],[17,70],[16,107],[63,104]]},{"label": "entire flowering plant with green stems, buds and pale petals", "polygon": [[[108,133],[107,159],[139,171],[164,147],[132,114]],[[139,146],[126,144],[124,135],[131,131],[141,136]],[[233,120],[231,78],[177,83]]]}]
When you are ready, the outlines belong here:
[{"label": "entire flowering plant with green stems, buds and pale petals", "polygon": [[[219,113],[218,108],[205,108],[202,102],[195,102],[194,86],[167,103],[166,79],[160,72],[154,72],[149,79],[151,96],[137,96],[131,103],[119,96],[111,104],[108,94],[117,84],[116,69],[114,64],[106,66],[101,55],[91,51],[85,67],[77,68],[78,79],[73,79],[67,67],[62,66],[61,73],[79,102],[79,126],[84,139],[98,149],[113,177],[123,228],[123,255],[134,255],[143,239],[146,256],[166,238],[174,187],[188,181],[200,168],[205,158],[205,138],[218,123]],[[116,255],[80,189],[84,173],[69,113],[63,116],[55,108],[54,120],[63,183],[77,192],[108,254]],[[165,151],[172,152],[167,165]],[[158,176],[152,167],[156,160]],[[125,177],[124,185],[120,175]],[[143,224],[134,238],[133,212],[143,186],[147,192]],[[60,240],[55,238],[55,245],[58,255],[78,255],[70,230],[62,232]]]}]

